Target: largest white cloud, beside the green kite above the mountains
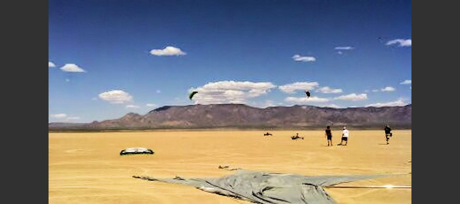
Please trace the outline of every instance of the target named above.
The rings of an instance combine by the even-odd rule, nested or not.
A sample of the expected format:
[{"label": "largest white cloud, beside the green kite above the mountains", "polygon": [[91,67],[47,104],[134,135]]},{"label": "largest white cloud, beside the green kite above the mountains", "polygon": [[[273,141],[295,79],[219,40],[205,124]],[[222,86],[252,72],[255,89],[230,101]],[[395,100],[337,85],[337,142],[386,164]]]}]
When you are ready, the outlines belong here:
[{"label": "largest white cloud, beside the green kite above the mountains", "polygon": [[195,104],[245,104],[248,98],[264,95],[275,87],[271,82],[219,81],[189,91],[198,91],[193,97]]}]

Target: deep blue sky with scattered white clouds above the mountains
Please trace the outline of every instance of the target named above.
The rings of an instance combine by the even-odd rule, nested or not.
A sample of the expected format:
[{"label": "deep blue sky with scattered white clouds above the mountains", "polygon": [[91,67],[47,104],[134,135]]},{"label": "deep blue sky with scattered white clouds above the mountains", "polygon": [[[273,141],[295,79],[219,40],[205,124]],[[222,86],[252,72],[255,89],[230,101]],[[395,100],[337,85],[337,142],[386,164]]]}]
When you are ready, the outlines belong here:
[{"label": "deep blue sky with scattered white clouds above the mountains", "polygon": [[49,1],[48,13],[49,122],[411,103],[410,1]]}]

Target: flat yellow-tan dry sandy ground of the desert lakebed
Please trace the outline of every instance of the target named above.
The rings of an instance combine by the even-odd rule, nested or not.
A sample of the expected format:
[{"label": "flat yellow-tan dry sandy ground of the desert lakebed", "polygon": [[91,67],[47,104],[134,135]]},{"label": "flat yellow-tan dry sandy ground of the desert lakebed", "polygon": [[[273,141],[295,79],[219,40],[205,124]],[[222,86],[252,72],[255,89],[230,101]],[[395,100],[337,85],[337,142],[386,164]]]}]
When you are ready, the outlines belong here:
[{"label": "flat yellow-tan dry sandy ground of the desert lakebed", "polygon": [[[291,140],[299,133],[304,140]],[[350,130],[347,146],[322,131],[49,133],[49,203],[250,203],[177,184],[134,179],[220,177],[219,165],[304,175],[405,174],[346,186],[411,186],[411,131]],[[337,144],[341,131],[333,131]],[[120,156],[147,147],[154,155]],[[338,203],[411,203],[411,189],[327,188]]]}]

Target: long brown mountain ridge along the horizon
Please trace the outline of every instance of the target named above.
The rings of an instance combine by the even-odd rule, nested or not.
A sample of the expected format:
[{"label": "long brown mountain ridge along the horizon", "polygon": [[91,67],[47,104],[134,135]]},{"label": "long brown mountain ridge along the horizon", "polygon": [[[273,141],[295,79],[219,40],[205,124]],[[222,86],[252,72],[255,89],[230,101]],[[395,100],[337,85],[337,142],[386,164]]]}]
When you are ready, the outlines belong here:
[{"label": "long brown mountain ridge along the horizon", "polygon": [[49,130],[144,129],[317,129],[329,123],[355,129],[411,129],[412,105],[396,107],[321,108],[314,106],[255,108],[242,104],[164,106],[145,115],[128,113],[119,119],[92,123],[49,123]]}]

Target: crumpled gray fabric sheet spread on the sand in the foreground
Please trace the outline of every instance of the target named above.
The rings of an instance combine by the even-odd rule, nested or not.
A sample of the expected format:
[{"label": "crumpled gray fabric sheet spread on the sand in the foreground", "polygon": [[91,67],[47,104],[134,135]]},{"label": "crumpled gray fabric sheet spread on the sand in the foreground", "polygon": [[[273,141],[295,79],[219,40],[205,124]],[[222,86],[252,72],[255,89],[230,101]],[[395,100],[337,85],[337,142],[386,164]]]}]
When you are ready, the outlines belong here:
[{"label": "crumpled gray fabric sheet spread on the sand in the foreground", "polygon": [[322,187],[385,175],[304,176],[239,170],[214,179],[135,178],[194,186],[200,190],[256,203],[336,203]]}]

